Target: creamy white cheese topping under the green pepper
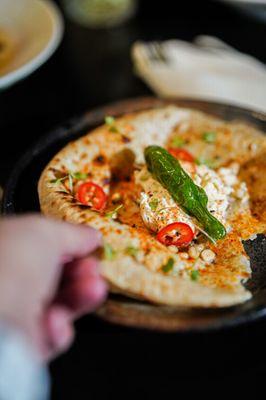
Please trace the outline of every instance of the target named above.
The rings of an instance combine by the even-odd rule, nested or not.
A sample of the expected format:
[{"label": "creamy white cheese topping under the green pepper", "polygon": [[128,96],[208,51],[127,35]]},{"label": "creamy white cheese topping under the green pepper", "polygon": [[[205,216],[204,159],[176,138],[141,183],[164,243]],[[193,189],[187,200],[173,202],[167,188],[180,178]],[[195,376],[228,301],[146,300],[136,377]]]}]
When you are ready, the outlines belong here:
[{"label": "creamy white cheese topping under the green pepper", "polygon": [[[207,207],[211,214],[230,229],[226,223],[226,214],[231,196],[237,197],[236,193],[242,191],[243,199],[248,199],[246,185],[237,178],[238,166],[232,164],[228,168],[214,171],[205,165],[191,168],[191,163],[181,162],[181,164],[193,181],[205,190],[208,196]],[[143,189],[140,197],[140,213],[149,229],[157,232],[173,222],[184,222],[193,232],[197,231],[196,219],[177,205],[169,192],[152,177],[146,167],[135,173],[135,180]]]}]

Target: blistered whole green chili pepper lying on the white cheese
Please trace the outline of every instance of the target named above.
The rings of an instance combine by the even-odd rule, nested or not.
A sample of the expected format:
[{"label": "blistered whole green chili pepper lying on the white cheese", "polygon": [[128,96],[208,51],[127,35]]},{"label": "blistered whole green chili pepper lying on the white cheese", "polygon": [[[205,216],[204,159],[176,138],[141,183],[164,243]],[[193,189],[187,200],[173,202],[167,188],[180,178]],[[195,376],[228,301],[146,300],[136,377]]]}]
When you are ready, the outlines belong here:
[{"label": "blistered whole green chili pepper lying on the white cheese", "polygon": [[208,197],[183,170],[179,161],[159,146],[145,149],[148,170],[184,211],[195,217],[211,239],[222,239],[225,227],[207,209]]}]

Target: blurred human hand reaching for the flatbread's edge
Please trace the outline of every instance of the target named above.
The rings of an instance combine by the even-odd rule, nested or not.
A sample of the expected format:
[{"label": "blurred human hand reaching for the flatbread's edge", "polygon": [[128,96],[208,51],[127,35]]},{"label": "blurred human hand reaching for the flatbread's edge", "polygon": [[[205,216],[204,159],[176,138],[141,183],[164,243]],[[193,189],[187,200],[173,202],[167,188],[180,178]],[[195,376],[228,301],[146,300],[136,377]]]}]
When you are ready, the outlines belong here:
[{"label": "blurred human hand reaching for the flatbread's edge", "polygon": [[37,215],[0,222],[0,318],[21,329],[43,359],[73,340],[73,321],[94,310],[107,287],[90,255],[101,234]]}]

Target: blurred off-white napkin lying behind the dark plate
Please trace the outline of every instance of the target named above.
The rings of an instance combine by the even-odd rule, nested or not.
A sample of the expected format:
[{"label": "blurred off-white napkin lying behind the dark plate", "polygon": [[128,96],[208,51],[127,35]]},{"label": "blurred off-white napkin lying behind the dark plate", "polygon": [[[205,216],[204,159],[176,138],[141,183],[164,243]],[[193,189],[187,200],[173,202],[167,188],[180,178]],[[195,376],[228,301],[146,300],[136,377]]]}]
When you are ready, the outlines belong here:
[{"label": "blurred off-white napkin lying behind the dark plate", "polygon": [[266,111],[265,65],[217,38],[198,36],[194,43],[168,40],[155,46],[136,42],[132,58],[136,73],[161,97],[222,101]]}]

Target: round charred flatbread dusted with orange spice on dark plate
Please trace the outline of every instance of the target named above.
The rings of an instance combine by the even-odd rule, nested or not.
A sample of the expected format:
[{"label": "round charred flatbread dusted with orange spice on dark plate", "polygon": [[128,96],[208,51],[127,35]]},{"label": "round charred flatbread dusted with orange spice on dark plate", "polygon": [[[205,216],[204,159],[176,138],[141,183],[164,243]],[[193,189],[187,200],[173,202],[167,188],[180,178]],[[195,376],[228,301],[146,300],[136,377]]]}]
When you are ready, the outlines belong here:
[{"label": "round charred flatbread dusted with orange spice on dark plate", "polygon": [[[215,145],[202,141],[204,131],[217,133]],[[105,243],[114,249],[113,259],[102,261],[102,275],[113,291],[173,306],[226,307],[244,302],[251,293],[242,283],[250,277],[251,271],[241,239],[263,232],[263,218],[259,220],[256,212],[252,215],[247,205],[236,200],[229,216],[232,231],[216,245],[207,244],[216,253],[215,262],[207,265],[200,278],[193,281],[186,273],[192,268],[191,260],[182,258],[180,253],[173,254],[143,226],[136,204],[139,188],[127,176],[133,172],[130,168],[127,170],[126,163],[122,169],[125,176],[120,182],[110,184],[117,160],[123,162],[123,154],[126,158],[127,154],[129,158],[133,154],[135,164],[143,164],[146,146],[167,147],[177,133],[186,140],[186,148],[194,156],[215,159],[217,165],[236,161],[244,168],[251,160],[263,159],[263,153],[266,154],[263,135],[242,123],[229,124],[176,106],[138,112],[117,118],[115,129],[105,124],[69,143],[50,161],[38,186],[41,210],[48,216],[101,230]],[[110,198],[118,188],[124,201],[119,219],[78,204],[66,181],[64,185],[54,182],[69,171],[88,173],[89,180],[103,187]],[[256,206],[256,194],[250,195],[251,205]],[[137,254],[128,251],[131,247],[138,249]],[[176,274],[162,271],[169,257],[179,266]]]}]

